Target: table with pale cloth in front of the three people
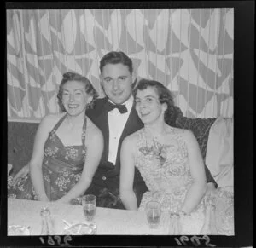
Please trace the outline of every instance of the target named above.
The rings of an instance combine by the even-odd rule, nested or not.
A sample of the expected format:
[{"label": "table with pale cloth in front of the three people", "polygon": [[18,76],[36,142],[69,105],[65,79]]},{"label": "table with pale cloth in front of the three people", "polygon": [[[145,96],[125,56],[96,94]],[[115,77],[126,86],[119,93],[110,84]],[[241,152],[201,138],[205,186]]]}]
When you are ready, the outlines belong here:
[{"label": "table with pale cloth in front of the three people", "polygon": [[[63,219],[75,224],[85,222],[81,205],[57,204],[26,199],[8,199],[8,225],[30,226],[31,235],[40,235],[40,211],[48,206],[54,219],[55,235],[62,235],[65,224]],[[160,226],[148,228],[145,212],[127,211],[110,208],[96,208],[95,222],[97,235],[167,235],[169,233],[169,214],[163,212]]]}]

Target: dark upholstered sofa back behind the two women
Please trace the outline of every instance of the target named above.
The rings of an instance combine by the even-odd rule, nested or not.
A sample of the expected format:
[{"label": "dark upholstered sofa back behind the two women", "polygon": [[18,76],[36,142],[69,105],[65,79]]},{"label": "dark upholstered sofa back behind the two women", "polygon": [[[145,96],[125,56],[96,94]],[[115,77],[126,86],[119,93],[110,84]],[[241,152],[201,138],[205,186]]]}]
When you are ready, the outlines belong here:
[{"label": "dark upholstered sofa back behind the two women", "polygon": [[[173,116],[170,117],[173,120]],[[209,131],[216,118],[186,118],[179,107],[175,110],[172,125],[192,130],[205,161]],[[170,120],[171,123],[171,120]],[[14,167],[14,173],[29,162],[32,156],[33,142],[39,123],[8,122],[8,163]]]}]

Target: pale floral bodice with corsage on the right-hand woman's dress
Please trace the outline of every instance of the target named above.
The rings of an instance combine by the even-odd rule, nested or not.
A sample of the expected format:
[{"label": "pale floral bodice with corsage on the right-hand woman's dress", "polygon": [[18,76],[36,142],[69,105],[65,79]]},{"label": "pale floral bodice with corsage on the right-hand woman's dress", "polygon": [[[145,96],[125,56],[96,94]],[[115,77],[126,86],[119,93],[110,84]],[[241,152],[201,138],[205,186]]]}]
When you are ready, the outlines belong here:
[{"label": "pale floral bodice with corsage on the right-hand woman's dress", "polygon": [[161,145],[154,141],[148,146],[143,130],[138,132],[136,166],[149,191],[180,193],[192,183],[189,157],[182,131],[170,127],[177,145]]}]

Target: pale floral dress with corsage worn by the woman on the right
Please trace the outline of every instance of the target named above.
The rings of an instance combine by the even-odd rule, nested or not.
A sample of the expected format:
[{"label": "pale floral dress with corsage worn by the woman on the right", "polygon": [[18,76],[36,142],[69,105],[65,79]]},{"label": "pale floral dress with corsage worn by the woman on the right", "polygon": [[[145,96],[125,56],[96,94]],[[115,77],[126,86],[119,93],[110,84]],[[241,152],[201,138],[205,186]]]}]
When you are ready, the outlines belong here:
[{"label": "pale floral dress with corsage worn by the woman on the right", "polygon": [[[193,183],[189,170],[188,149],[181,130],[170,127],[169,131],[172,133],[173,139],[177,141],[177,145],[161,145],[157,141],[148,144],[144,130],[138,132],[135,163],[149,190],[143,194],[139,211],[145,210],[148,201],[156,200],[160,202],[162,211],[177,212],[183,205],[186,193]],[[219,190],[215,191],[214,197],[206,194],[192,213],[181,219],[182,234],[209,234],[206,222],[211,222],[210,225],[213,224],[212,216],[206,215],[209,205],[213,206],[213,210],[216,212],[213,217],[216,218],[218,209],[223,209],[224,205],[231,207],[230,211],[232,212],[233,196]],[[219,207],[219,205],[223,206]],[[212,215],[212,213],[210,214]],[[226,228],[224,228],[224,222],[228,225]],[[233,224],[232,214],[230,216],[222,213],[214,222],[214,234],[233,234]],[[218,231],[216,231],[217,226]]]}]

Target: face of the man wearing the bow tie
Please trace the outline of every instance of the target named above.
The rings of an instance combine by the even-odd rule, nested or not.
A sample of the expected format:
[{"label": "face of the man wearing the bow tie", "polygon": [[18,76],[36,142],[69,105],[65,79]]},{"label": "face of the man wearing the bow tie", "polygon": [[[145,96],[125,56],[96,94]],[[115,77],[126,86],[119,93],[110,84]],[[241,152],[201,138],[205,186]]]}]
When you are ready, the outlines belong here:
[{"label": "face of the man wearing the bow tie", "polygon": [[133,75],[128,66],[107,64],[102,68],[102,88],[115,104],[122,104],[131,96]]}]

